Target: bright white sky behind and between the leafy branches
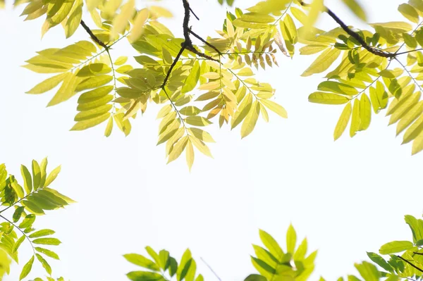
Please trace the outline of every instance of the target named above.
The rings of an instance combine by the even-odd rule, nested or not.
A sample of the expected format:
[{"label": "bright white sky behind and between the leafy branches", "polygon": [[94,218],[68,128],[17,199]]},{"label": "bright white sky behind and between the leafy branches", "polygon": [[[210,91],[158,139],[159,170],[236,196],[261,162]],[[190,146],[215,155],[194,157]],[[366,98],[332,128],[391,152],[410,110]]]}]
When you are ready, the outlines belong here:
[{"label": "bright white sky behind and between the leafy branches", "polygon": [[[403,20],[397,0],[365,2],[370,22]],[[176,15],[171,30],[180,35],[180,1],[162,1]],[[254,0],[238,0],[247,8]],[[360,25],[339,0],[326,5],[351,25]],[[221,28],[225,8],[216,0],[192,1],[200,35]],[[146,254],[144,246],[168,249],[180,258],[190,247],[207,280],[215,277],[200,261],[204,258],[222,280],[241,280],[254,270],[251,244],[259,243],[258,228],[285,245],[285,232],[293,223],[299,237],[307,235],[309,249],[319,249],[314,278],[333,280],[355,273],[353,263],[366,259],[393,239],[410,239],[405,214],[420,216],[422,207],[410,197],[421,196],[423,154],[410,156],[410,145],[400,146],[395,127],[387,127],[384,113],[372,120],[367,132],[354,139],[348,134],[333,142],[333,127],[343,106],[309,104],[321,77],[300,77],[312,57],[291,61],[278,56],[280,68],[260,72],[261,80],[277,89],[276,100],[288,120],[271,114],[269,124],[259,120],[255,132],[241,140],[239,129],[228,127],[212,134],[214,160],[196,154],[188,172],[185,159],[166,166],[164,146],[156,146],[154,120],[158,108],[133,123],[129,137],[114,128],[103,137],[104,125],[85,132],[69,132],[76,97],[46,108],[52,93],[24,94],[48,76],[20,68],[35,51],[62,47],[87,39],[80,29],[66,41],[61,27],[40,39],[42,20],[23,22],[20,9],[0,11],[1,162],[20,176],[20,163],[49,156],[49,167],[62,164],[54,183],[59,192],[78,204],[37,219],[35,226],[56,230],[63,244],[56,251],[61,262],[51,261],[54,275],[73,281],[126,280],[138,270],[122,254]],[[321,25],[335,27],[326,16]],[[136,56],[126,42],[112,56]],[[30,256],[23,244],[20,268]],[[20,270],[6,281],[18,280]],[[44,275],[38,263],[29,277]]]}]

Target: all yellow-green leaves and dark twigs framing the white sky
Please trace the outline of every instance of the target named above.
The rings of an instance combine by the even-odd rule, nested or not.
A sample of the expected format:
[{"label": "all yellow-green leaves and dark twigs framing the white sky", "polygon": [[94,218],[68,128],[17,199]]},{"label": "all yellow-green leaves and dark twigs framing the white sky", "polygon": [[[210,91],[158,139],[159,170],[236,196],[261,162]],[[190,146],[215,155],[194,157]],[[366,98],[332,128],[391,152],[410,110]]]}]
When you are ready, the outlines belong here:
[{"label": "all yellow-green leaves and dark twigs framing the white sky", "polygon": [[[223,0],[218,1],[223,4]],[[343,2],[357,18],[367,20],[357,1]],[[162,6],[137,9],[135,0],[16,0],[14,6],[23,6],[25,20],[45,18],[42,36],[60,25],[70,41],[68,46],[37,51],[25,62],[24,68],[43,75],[42,82],[27,94],[53,92],[48,106],[78,96],[78,113],[71,130],[104,124],[106,137],[114,126],[129,135],[131,120],[144,114],[149,105],[161,106],[157,144],[164,144],[168,163],[185,152],[191,168],[195,149],[212,157],[208,144],[214,139],[206,130],[212,123],[231,129],[239,126],[241,137],[247,137],[260,116],[269,121],[269,111],[288,117],[286,109],[275,101],[276,89],[258,81],[255,74],[259,69],[278,66],[283,56],[293,58],[299,52],[317,56],[303,77],[325,74],[316,92],[309,94],[309,101],[343,106],[333,132],[335,140],[348,125],[350,137],[367,130],[372,115],[385,111],[389,124],[397,124],[397,135],[403,134],[403,144],[412,142],[412,154],[423,150],[419,82],[423,80],[423,0],[401,4],[398,11],[402,21],[369,23],[369,30],[349,27],[322,0],[309,4],[300,0],[259,1],[250,8],[228,12],[216,37],[197,35],[190,27],[192,17],[197,18],[195,11],[188,0],[180,3],[185,15],[183,38],[176,38],[161,23],[161,18],[172,17]],[[226,4],[232,6],[234,1],[226,0]],[[4,0],[0,1],[2,6]],[[332,30],[317,28],[321,13],[339,26]],[[82,20],[85,17],[96,29]],[[78,28],[87,32],[87,39],[74,42],[72,36]],[[194,38],[200,43],[194,44]],[[128,42],[139,53],[133,57],[136,63],[130,63],[126,56],[114,58],[112,46],[121,42]],[[47,158],[40,163],[32,161],[31,170],[21,167],[20,185],[16,177],[8,175],[6,166],[0,166],[0,200],[4,206],[0,210],[4,220],[0,224],[0,263],[4,273],[9,271],[10,259],[18,263],[18,249],[26,240],[33,255],[23,266],[20,280],[30,274],[34,263],[39,263],[49,275],[47,280],[54,281],[45,258],[59,256],[44,247],[61,242],[50,236],[54,230],[36,230],[32,225],[45,211],[74,203],[49,187],[59,172],[60,167],[47,175]],[[422,278],[423,220],[405,216],[405,222],[412,230],[412,241],[389,242],[381,246],[379,254],[367,253],[372,263],[355,264],[360,277],[349,275],[348,280]],[[290,226],[283,251],[268,233],[260,230],[259,236],[264,247],[253,245],[255,256],[251,257],[257,273],[245,280],[307,280],[317,256],[316,251],[307,254],[307,239],[297,247],[297,236]],[[124,256],[144,268],[128,273],[130,280],[169,280],[173,276],[178,281],[204,279],[197,274],[189,249],[180,261],[166,250],[157,253],[147,246],[146,251],[151,258]]]}]

